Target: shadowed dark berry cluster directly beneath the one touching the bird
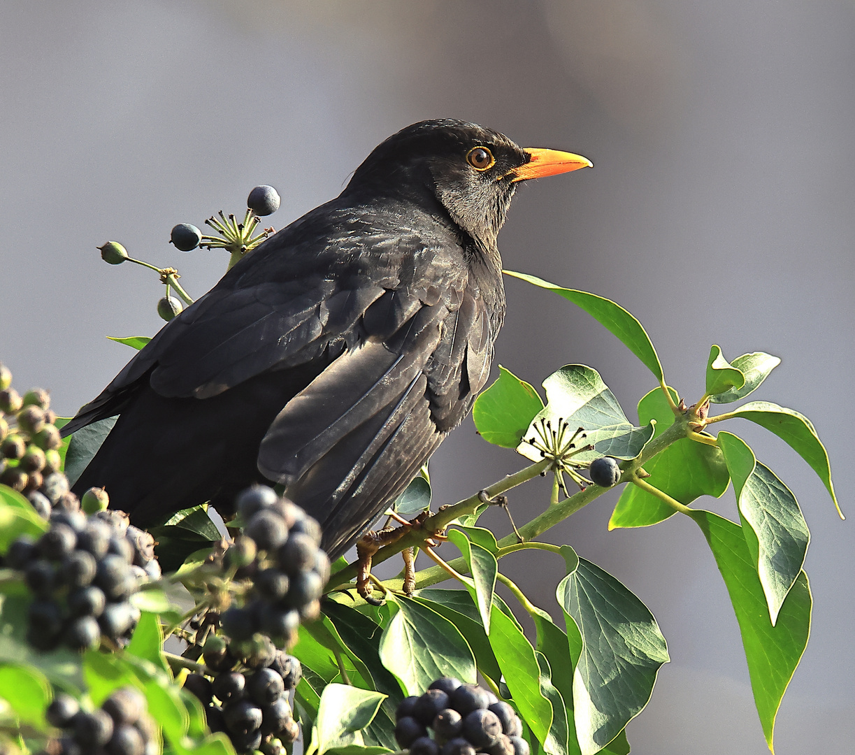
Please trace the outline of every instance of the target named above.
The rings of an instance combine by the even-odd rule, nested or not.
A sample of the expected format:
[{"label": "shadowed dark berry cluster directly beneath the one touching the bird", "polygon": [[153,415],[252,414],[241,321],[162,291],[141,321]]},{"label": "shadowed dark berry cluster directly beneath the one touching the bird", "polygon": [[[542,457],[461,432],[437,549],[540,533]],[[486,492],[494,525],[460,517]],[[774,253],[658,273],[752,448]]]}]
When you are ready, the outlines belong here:
[{"label": "shadowed dark berry cluster directly beneath the one touching the bird", "polygon": [[284,753],[300,733],[288,700],[303,675],[298,659],[268,644],[239,661],[219,637],[209,637],[203,652],[213,679],[191,674],[184,687],[205,706],[211,731],[225,732],[237,752]]}]

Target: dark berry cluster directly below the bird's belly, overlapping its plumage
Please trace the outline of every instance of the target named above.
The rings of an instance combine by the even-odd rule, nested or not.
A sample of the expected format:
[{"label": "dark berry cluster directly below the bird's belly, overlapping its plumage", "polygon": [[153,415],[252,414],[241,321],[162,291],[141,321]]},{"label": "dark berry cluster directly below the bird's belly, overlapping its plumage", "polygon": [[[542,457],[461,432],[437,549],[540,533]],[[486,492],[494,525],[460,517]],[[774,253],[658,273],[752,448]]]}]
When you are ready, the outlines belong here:
[{"label": "dark berry cluster directly below the bird's belly, overlapping its plumage", "polygon": [[221,628],[232,640],[250,640],[258,632],[291,646],[301,620],[321,611],[321,593],[329,579],[329,559],[321,550],[321,527],[304,510],[273,489],[253,486],[240,493],[242,534],[225,554],[235,580],[250,580],[243,607],[232,605]]}]

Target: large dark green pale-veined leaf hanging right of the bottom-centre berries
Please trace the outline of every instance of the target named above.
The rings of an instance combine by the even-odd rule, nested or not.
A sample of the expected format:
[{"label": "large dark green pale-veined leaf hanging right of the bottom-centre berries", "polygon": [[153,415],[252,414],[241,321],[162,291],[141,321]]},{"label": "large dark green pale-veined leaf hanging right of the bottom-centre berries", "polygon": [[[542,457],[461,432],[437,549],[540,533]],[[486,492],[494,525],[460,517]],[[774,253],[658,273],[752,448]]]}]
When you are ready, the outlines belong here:
[{"label": "large dark green pale-veined leaf hanging right of the bottom-centre berries", "polygon": [[669,661],[668,648],[646,605],[584,558],[558,591],[584,643],[573,712],[582,755],[593,755],[647,705],[657,672]]}]

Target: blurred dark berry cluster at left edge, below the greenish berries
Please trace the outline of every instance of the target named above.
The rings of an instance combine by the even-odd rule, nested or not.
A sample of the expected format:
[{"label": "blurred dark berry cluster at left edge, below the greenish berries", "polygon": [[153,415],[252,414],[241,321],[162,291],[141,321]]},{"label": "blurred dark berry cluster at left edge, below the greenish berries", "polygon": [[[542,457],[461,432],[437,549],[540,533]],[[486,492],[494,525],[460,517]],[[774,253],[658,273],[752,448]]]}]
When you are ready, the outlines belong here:
[{"label": "blurred dark berry cluster at left edge, below the greenish berries", "polygon": [[33,594],[27,641],[48,651],[97,647],[102,637],[122,644],[139,620],[130,602],[143,581],[158,579],[150,534],[128,524],[123,511],[53,510],[38,540],[21,535],[3,559],[23,572]]}]

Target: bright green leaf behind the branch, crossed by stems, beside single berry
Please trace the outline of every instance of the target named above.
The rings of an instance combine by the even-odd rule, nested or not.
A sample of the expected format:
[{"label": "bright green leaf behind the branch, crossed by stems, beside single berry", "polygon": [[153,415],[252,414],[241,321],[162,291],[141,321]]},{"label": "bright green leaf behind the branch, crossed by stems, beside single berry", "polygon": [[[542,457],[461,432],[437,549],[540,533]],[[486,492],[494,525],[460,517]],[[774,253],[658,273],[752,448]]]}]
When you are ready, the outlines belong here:
[{"label": "bright green leaf behind the branch, crossed by stems, beside single berry", "polygon": [[[669,388],[671,397],[677,393]],[[654,388],[639,402],[639,422],[656,422],[656,432],[663,434],[675,421],[661,388]],[[646,462],[644,469],[651,476],[647,480],[653,487],[668,493],[671,498],[689,505],[702,495],[720,498],[728,489],[730,477],[722,451],[715,445],[698,443],[681,438]],[[662,522],[675,513],[668,504],[637,485],[627,485],[618,498],[609,520],[609,529],[647,527]]]}]

